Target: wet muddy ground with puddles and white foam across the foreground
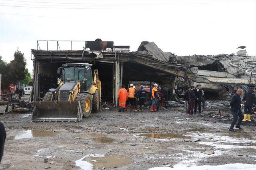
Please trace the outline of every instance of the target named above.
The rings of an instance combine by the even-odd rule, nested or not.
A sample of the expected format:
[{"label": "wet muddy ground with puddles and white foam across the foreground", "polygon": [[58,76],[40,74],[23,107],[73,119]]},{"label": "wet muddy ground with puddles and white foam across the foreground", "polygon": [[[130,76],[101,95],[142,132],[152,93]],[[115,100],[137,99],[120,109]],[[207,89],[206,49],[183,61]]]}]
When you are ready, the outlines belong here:
[{"label": "wet muddy ground with puddles and white foam across the foreground", "polygon": [[[157,113],[148,108],[143,113],[103,109],[78,123],[34,123],[30,119],[31,113],[0,115],[8,137],[1,169],[75,170],[94,165],[93,168],[145,170],[256,164],[255,122],[243,122],[245,130],[234,133],[228,131],[231,121],[186,115],[184,107]],[[140,135],[144,133],[147,134]],[[205,154],[206,150],[214,154]],[[44,157],[48,157],[47,163]],[[100,160],[102,157],[106,159]]]}]

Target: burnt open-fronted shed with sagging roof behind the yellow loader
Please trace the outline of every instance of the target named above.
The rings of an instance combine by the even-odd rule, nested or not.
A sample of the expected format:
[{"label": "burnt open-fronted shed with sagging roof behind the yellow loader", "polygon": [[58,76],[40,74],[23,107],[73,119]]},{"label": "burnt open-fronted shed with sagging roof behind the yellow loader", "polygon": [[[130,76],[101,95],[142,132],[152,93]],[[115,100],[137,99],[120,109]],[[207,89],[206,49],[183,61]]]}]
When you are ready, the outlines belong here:
[{"label": "burnt open-fronted shed with sagging roof behind the yellow loader", "polygon": [[[48,44],[48,41],[46,41]],[[72,45],[72,41],[71,45]],[[117,93],[121,85],[130,80],[158,82],[169,87],[172,94],[177,77],[187,79],[186,67],[154,59],[152,55],[127,51],[129,46],[114,46],[112,41],[84,41],[81,50],[32,49],[34,55],[35,101],[42,100],[50,88],[58,86],[57,69],[65,63],[91,63],[92,69],[98,69],[102,82],[102,100],[113,100],[117,104]],[[38,43],[38,42],[37,42]],[[39,44],[38,44],[39,45]],[[126,50],[122,49],[125,48]],[[48,49],[48,47],[47,47]],[[117,50],[118,49],[118,50]]]}]

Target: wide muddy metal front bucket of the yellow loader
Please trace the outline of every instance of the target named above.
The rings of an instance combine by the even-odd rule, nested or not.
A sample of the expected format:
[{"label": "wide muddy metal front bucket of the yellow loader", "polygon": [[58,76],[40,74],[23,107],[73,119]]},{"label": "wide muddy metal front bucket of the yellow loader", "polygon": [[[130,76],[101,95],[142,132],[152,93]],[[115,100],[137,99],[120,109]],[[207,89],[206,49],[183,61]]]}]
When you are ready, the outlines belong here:
[{"label": "wide muddy metal front bucket of the yellow loader", "polygon": [[77,122],[83,113],[80,102],[33,102],[32,121],[68,121]]}]

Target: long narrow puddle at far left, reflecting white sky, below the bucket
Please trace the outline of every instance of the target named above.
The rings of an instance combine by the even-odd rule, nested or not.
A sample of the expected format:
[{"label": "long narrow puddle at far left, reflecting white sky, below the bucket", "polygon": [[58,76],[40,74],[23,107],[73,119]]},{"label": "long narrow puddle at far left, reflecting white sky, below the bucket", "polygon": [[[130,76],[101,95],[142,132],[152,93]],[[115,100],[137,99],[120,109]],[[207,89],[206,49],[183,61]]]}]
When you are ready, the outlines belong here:
[{"label": "long narrow puddle at far left, reflecting white sky, below the bucket", "polygon": [[7,140],[18,140],[32,137],[50,137],[57,135],[60,132],[55,131],[44,131],[44,130],[28,130],[24,133],[20,133],[14,136],[7,137]]}]

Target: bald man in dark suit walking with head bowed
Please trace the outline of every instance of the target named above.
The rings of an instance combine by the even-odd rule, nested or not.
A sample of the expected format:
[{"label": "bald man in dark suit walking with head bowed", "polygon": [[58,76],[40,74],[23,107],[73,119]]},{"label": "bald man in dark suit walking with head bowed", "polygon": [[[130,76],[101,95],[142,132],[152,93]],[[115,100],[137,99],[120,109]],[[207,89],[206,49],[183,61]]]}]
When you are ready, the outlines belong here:
[{"label": "bald man in dark suit walking with head bowed", "polygon": [[240,127],[240,123],[241,123],[242,119],[244,119],[244,115],[241,111],[241,104],[244,104],[244,101],[241,101],[241,98],[240,98],[242,93],[243,93],[243,90],[239,88],[236,91],[236,94],[234,94],[234,96],[232,97],[231,102],[230,102],[230,106],[231,106],[230,111],[233,115],[233,121],[231,123],[229,130],[232,132],[235,132],[234,125],[236,124],[238,117],[239,117],[239,120],[236,124],[236,128],[243,129]]}]

